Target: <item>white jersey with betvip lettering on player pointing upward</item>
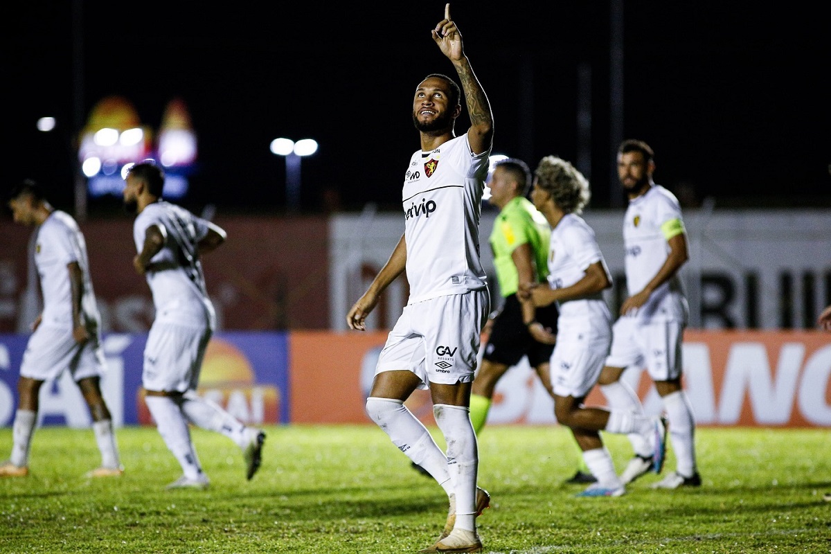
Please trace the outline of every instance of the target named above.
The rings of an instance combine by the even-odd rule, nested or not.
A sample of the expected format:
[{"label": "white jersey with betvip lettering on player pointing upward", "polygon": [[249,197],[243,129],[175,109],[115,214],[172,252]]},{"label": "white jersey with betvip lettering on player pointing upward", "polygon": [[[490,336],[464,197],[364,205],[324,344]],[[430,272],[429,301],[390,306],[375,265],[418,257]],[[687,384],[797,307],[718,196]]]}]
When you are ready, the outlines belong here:
[{"label": "white jersey with betvip lettering on player pointing upward", "polygon": [[408,304],[487,287],[479,216],[488,156],[472,154],[467,135],[413,154],[401,193]]}]

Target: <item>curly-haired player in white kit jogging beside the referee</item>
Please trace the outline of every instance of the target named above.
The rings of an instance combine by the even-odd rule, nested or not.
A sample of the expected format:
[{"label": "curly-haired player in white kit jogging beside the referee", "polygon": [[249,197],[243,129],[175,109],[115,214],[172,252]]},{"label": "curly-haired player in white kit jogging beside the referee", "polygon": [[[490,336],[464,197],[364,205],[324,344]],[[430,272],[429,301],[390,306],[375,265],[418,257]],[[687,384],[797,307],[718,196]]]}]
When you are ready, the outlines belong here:
[{"label": "curly-haired player in white kit jogging beside the referee", "polygon": [[[612,315],[602,297],[603,290],[612,286],[612,276],[593,229],[578,215],[589,197],[588,181],[568,161],[547,156],[539,162],[531,200],[551,226],[548,284],[525,283],[520,294],[530,297],[534,306],[558,303],[557,344],[549,364],[554,415],[572,430],[583,460],[597,478],[597,483],[578,496],[617,497],[626,493],[626,488],[599,431],[647,434],[652,438],[656,463],[662,464],[666,427],[659,418],[583,404],[612,343]],[[529,331],[542,335],[540,326],[533,323]]]}]

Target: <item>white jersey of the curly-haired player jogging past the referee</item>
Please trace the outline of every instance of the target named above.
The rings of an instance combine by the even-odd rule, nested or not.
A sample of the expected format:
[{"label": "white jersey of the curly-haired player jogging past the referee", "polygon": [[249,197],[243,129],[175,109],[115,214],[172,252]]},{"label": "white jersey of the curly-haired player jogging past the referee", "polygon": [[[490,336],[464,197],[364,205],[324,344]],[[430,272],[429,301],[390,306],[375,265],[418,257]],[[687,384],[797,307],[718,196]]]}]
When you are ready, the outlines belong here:
[{"label": "white jersey of the curly-haired player jogging past the referee", "polygon": [[[551,288],[571,287],[586,274],[595,262],[606,267],[594,230],[583,218],[567,213],[551,230],[548,244],[548,284]],[[558,302],[559,329],[600,331],[608,333],[612,314],[603,300],[602,292],[593,297]]]}]

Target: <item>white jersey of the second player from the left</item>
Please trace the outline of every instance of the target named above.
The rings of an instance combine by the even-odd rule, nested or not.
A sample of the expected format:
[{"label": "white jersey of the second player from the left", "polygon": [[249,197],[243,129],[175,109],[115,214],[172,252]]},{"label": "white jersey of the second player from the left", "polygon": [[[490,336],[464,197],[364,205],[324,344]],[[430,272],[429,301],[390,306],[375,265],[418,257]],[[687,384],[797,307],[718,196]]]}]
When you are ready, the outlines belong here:
[{"label": "white jersey of the second player from the left", "polygon": [[165,228],[167,238],[160,252],[150,259],[146,273],[153,294],[155,321],[194,325],[209,316],[214,326],[214,306],[205,288],[199,241],[208,234],[208,222],[173,203],[160,200],[148,204],[135,218],[135,248],[144,248],[145,233],[153,225]]}]

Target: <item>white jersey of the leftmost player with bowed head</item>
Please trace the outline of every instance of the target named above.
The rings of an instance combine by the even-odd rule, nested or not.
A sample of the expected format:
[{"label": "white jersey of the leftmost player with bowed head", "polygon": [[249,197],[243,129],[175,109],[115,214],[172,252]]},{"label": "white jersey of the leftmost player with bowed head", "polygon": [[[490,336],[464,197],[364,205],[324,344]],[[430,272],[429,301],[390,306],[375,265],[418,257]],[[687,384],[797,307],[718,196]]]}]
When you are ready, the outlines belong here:
[{"label": "white jersey of the leftmost player with bowed head", "polygon": [[55,210],[37,230],[35,266],[41,280],[41,325],[72,329],[72,291],[67,265],[81,267],[81,320],[92,335],[100,329],[101,316],[90,278],[86,241],[78,223],[66,212]]}]

